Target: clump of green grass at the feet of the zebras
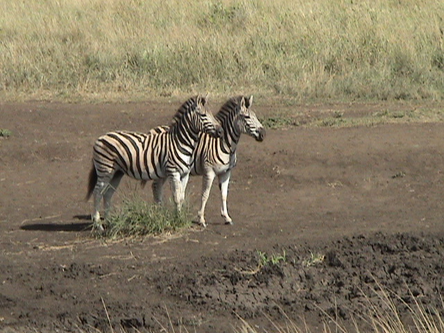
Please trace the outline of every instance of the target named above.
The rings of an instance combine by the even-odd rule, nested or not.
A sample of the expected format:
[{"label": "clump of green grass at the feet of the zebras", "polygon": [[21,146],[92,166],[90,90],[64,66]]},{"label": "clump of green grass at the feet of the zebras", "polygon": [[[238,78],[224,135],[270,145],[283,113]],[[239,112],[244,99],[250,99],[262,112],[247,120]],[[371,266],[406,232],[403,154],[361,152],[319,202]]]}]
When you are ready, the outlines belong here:
[{"label": "clump of green grass at the feet of the zebras", "polygon": [[137,196],[126,198],[108,219],[104,236],[116,239],[164,234],[188,228],[192,221],[187,207],[177,212],[171,206],[147,203]]}]

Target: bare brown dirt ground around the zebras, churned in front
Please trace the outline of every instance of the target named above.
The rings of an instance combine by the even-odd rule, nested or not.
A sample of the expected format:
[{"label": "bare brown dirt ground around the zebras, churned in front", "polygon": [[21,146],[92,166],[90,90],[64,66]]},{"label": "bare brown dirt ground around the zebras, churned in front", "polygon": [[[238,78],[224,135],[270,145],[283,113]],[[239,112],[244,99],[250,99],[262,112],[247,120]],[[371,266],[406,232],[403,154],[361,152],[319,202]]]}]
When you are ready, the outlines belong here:
[{"label": "bare brown dirt ground around the zebras, churned in front", "polygon": [[[255,110],[309,119],[409,108],[272,105]],[[379,302],[378,284],[404,300],[402,315],[416,300],[442,309],[444,123],[242,137],[228,197],[234,225],[219,216],[214,184],[205,230],[94,239],[83,200],[94,140],[167,124],[179,106],[0,103],[0,128],[12,131],[0,139],[0,331],[219,333],[239,328],[240,316],[272,332],[282,310],[317,332],[327,314],[350,323]],[[191,178],[187,189],[196,212],[200,184]],[[151,187],[125,178],[114,203],[133,191],[152,200]],[[284,260],[258,267],[259,252]]]}]

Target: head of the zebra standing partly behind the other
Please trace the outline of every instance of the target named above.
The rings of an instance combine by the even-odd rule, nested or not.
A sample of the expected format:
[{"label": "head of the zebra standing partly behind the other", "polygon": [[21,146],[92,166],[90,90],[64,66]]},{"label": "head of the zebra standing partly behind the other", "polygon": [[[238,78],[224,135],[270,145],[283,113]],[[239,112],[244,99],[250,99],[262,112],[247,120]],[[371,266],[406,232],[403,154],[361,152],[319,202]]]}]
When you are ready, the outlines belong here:
[{"label": "head of the zebra standing partly behind the other", "polygon": [[237,108],[239,108],[237,115],[237,127],[241,130],[241,133],[254,137],[256,141],[262,142],[265,138],[265,128],[262,123],[257,119],[253,110],[250,110],[251,104],[253,104],[253,95],[248,99],[241,96]]}]

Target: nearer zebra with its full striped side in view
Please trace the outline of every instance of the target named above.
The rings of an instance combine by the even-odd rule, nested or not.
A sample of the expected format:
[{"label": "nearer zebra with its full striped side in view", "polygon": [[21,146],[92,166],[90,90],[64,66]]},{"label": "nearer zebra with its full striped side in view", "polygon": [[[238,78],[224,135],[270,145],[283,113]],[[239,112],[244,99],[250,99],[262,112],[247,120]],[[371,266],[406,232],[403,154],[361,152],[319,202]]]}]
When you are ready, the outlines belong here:
[{"label": "nearer zebra with its full striped side in view", "polygon": [[104,230],[99,213],[101,199],[106,220],[112,195],[123,175],[137,180],[162,180],[162,184],[169,178],[173,200],[180,211],[199,133],[220,137],[223,132],[212,113],[205,109],[205,103],[207,96],[188,99],[176,112],[168,130],[154,129],[148,134],[118,130],[96,140],[86,200],[94,193],[92,221],[99,231]]}]

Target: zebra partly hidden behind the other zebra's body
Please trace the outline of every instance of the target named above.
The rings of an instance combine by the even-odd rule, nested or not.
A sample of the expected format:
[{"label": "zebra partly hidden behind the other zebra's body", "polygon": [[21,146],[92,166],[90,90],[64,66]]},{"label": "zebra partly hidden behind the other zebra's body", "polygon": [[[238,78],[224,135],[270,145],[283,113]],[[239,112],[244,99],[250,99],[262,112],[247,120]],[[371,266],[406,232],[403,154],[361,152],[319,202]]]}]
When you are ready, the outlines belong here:
[{"label": "zebra partly hidden behind the other zebra's body", "polygon": [[[266,135],[264,126],[257,119],[255,112],[250,110],[252,104],[253,95],[248,98],[246,96],[232,97],[216,114],[216,119],[223,128],[223,137],[212,137],[206,133],[199,134],[198,145],[192,159],[191,176],[203,176],[200,210],[196,222],[204,227],[207,226],[205,205],[207,205],[210,189],[216,176],[219,178],[222,197],[221,216],[225,219],[225,224],[233,224],[228,214],[227,196],[231,171],[237,164],[236,148],[241,133],[254,137],[258,142],[262,142]],[[160,126],[154,130],[167,131],[168,127]],[[153,182],[153,195],[156,202],[162,200],[163,182],[162,179]]]}]

